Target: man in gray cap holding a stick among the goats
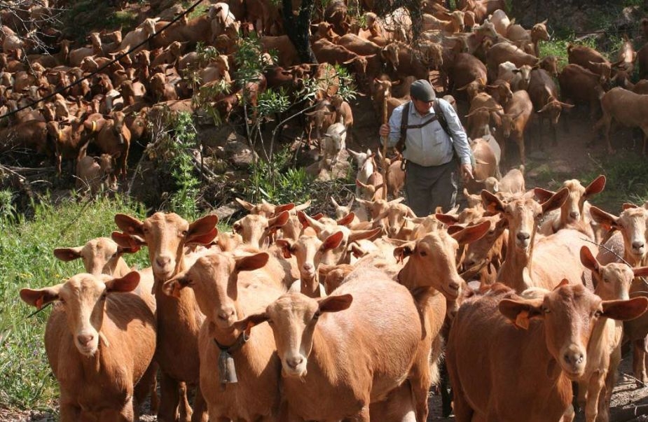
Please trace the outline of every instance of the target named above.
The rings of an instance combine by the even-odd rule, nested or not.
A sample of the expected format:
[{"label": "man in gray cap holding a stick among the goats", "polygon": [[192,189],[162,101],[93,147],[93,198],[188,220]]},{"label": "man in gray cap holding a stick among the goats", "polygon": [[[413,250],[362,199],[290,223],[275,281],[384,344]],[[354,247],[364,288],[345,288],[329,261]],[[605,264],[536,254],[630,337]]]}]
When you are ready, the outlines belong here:
[{"label": "man in gray cap holding a stick among the goats", "polygon": [[471,151],[455,109],[448,101],[436,99],[428,80],[415,80],[410,95],[411,101],[394,108],[389,124],[380,126],[380,136],[388,136],[387,146],[403,151],[407,202],[417,216],[424,217],[437,206],[445,212],[455,206],[457,171],[464,181],[473,178]]}]

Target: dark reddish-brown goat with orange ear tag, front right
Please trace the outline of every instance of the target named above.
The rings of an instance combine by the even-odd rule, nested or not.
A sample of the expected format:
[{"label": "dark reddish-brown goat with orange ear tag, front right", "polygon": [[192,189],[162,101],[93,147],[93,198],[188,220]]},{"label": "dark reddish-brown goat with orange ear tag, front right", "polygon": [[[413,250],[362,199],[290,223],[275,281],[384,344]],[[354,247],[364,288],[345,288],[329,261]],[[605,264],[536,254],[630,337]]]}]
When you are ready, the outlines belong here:
[{"label": "dark reddish-brown goat with orange ear tag, front right", "polygon": [[[448,338],[455,419],[571,420],[573,409],[563,415],[571,406],[572,381],[585,372],[595,323],[635,318],[647,307],[642,297],[602,301],[567,280],[534,299],[499,284],[469,298]],[[479,351],[478,359],[472,351]]]}]

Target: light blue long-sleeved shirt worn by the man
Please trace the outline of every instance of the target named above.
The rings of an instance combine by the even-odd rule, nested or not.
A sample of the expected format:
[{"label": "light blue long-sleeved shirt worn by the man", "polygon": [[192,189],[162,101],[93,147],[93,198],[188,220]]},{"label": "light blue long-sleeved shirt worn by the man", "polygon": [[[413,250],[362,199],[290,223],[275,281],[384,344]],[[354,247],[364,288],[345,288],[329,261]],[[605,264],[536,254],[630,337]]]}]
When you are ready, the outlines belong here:
[{"label": "light blue long-sleeved shirt worn by the man", "polygon": [[[450,134],[452,134],[452,138],[450,139],[450,136],[443,130],[439,120],[434,120],[434,122],[419,129],[408,129],[405,140],[405,151],[403,153],[405,159],[424,167],[439,166],[453,159],[454,147],[454,151],[456,151],[461,164],[471,164],[468,137],[466,132],[464,132],[457,113],[455,113],[455,109],[446,100],[436,99],[436,101],[439,101],[441,111],[446,116],[446,122],[448,122],[448,129],[450,130]],[[401,104],[397,108],[394,108],[392,112],[387,146],[395,146],[401,137],[401,117],[404,107],[405,104]],[[420,125],[422,122],[429,120],[432,115],[434,115],[434,107],[430,107],[429,114],[424,116],[416,111],[414,104],[411,104],[407,122],[408,126]]]}]

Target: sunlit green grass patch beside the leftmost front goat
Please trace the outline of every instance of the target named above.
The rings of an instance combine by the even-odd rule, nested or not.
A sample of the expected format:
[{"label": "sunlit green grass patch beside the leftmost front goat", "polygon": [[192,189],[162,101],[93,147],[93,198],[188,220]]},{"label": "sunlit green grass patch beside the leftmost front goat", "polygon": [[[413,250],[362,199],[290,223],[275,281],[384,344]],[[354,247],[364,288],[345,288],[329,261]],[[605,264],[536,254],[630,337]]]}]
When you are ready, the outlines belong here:
[{"label": "sunlit green grass patch beside the leftmost front goat", "polygon": [[[0,407],[48,408],[58,395],[43,346],[49,309],[29,318],[35,309],[20,300],[20,288],[51,286],[83,272],[81,260],[59,261],[53,249],[109,236],[117,230],[116,213],[144,216],[141,206],[119,198],[97,200],[89,206],[46,202],[49,199],[34,205],[33,219],[0,220]],[[146,251],[126,260],[139,267],[148,265]]]}]

